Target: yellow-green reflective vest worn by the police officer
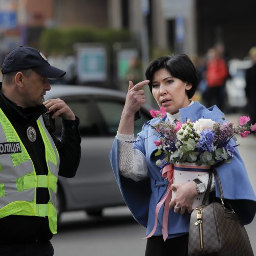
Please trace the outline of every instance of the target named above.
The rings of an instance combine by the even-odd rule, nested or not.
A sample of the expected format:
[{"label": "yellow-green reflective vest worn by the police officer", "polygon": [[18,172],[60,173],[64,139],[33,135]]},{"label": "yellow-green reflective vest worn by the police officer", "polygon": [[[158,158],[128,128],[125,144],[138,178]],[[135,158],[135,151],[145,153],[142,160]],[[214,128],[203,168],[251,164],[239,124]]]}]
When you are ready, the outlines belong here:
[{"label": "yellow-green reflective vest worn by the police officer", "polygon": [[[36,122],[45,144],[48,175],[36,175],[24,144],[0,109],[0,218],[9,215],[48,216],[50,230],[56,233],[59,155],[42,117]],[[37,187],[48,188],[48,204],[36,204]]]}]

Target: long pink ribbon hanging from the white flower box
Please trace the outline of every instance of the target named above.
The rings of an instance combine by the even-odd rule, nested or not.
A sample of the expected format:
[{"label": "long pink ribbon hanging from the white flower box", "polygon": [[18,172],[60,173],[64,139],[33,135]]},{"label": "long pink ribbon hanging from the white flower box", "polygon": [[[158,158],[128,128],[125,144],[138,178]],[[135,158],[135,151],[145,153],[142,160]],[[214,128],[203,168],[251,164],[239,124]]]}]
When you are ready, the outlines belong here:
[{"label": "long pink ribbon hanging from the white flower box", "polygon": [[164,211],[163,211],[163,226],[162,226],[163,240],[165,241],[168,237],[169,202],[172,199],[172,190],[170,189],[173,184],[173,165],[172,164],[169,164],[163,168],[162,176],[166,177],[166,178],[168,177],[169,184],[167,186],[167,191],[166,191],[164,197],[159,201],[159,203],[156,206],[155,225],[154,225],[152,231],[145,238],[150,238],[155,233],[155,231],[157,229],[158,214],[159,214],[161,206],[165,203]]}]

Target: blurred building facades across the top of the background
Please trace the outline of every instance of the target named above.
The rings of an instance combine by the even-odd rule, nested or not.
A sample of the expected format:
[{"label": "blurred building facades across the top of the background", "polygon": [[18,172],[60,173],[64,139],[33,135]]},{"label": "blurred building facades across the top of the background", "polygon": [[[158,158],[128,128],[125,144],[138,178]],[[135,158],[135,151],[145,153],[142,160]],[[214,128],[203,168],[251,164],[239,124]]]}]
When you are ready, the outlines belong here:
[{"label": "blurred building facades across the top of the background", "polygon": [[[0,34],[36,45],[42,29],[92,26],[126,28],[141,41],[144,23],[151,52],[201,55],[221,41],[230,57],[243,58],[256,43],[255,8],[253,0],[1,0]],[[16,26],[3,24],[6,12],[16,13]]]}]

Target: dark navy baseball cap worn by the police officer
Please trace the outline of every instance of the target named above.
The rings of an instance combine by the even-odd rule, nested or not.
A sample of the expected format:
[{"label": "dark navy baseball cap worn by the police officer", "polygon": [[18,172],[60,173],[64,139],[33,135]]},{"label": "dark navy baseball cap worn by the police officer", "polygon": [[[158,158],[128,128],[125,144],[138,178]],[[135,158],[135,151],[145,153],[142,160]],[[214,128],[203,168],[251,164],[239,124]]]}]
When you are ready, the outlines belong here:
[{"label": "dark navy baseball cap worn by the police officer", "polygon": [[7,74],[26,69],[32,69],[49,78],[59,78],[66,74],[65,71],[51,66],[44,54],[27,46],[12,49],[6,55],[1,71],[3,74]]}]

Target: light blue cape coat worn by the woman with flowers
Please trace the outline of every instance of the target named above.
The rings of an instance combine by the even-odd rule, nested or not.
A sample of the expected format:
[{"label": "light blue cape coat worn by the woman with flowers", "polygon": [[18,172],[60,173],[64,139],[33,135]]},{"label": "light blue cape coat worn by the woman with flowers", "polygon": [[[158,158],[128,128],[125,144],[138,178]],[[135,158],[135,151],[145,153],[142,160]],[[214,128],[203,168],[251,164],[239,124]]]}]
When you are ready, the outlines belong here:
[{"label": "light blue cape coat worn by the woman with flowers", "polygon": [[[196,121],[199,118],[210,118],[216,122],[221,122],[224,116],[217,106],[206,109],[199,102],[195,102],[179,111],[182,122],[185,122],[186,118],[189,118],[191,121]],[[165,119],[167,120],[167,117]],[[150,121],[151,124],[157,122],[159,122],[158,118]],[[138,134],[137,140],[139,141],[134,143],[134,148],[137,148],[145,155],[149,179],[135,182],[132,179],[120,176],[117,138],[114,140],[110,153],[112,168],[123,199],[137,222],[147,227],[146,234],[150,233],[154,227],[155,208],[166,193],[168,185],[168,180],[162,178],[160,168],[155,164],[159,157],[154,155],[157,148],[153,141],[159,138],[154,133],[155,130],[151,129],[149,125],[143,125],[142,131]],[[254,159],[251,160],[253,161]],[[255,215],[256,197],[237,147],[231,163],[220,165],[217,167],[217,172],[221,180],[224,198],[231,200],[232,207],[239,215],[241,222],[244,225],[249,224]],[[216,191],[216,196],[219,197],[218,189]],[[176,214],[173,209],[170,209],[168,218],[168,238],[180,236],[182,233],[188,232],[190,214],[187,211],[186,214],[181,215]],[[159,211],[158,225],[154,236],[161,236],[162,234],[162,219],[163,206]]]}]

